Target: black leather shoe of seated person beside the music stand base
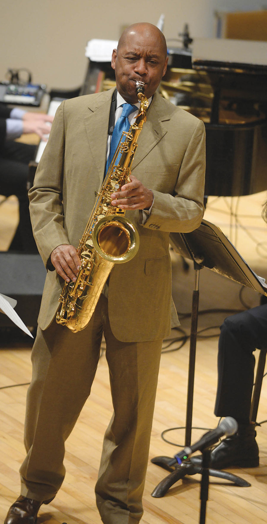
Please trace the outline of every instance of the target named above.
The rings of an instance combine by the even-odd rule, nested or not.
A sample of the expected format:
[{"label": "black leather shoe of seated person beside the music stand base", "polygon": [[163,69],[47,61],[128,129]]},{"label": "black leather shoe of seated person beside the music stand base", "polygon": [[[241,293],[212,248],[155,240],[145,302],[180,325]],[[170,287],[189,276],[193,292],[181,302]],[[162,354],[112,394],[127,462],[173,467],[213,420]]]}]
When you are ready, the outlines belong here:
[{"label": "black leather shoe of seated person beside the music stand base", "polygon": [[[259,465],[259,448],[255,441],[255,424],[239,424],[238,432],[228,436],[214,447],[210,453],[209,467],[224,470],[227,467],[257,467]],[[202,456],[191,458],[196,465],[202,464]]]}]

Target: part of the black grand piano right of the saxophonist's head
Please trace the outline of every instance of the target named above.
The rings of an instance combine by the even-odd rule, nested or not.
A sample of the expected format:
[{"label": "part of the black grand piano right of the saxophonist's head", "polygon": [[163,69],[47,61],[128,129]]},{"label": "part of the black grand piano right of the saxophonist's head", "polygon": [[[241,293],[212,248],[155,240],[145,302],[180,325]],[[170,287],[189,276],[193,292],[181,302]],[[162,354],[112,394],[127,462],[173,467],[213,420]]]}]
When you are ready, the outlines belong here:
[{"label": "part of the black grand piano right of the saxophonist's head", "polygon": [[205,124],[205,194],[266,190],[267,42],[195,39],[169,56],[163,94]]}]

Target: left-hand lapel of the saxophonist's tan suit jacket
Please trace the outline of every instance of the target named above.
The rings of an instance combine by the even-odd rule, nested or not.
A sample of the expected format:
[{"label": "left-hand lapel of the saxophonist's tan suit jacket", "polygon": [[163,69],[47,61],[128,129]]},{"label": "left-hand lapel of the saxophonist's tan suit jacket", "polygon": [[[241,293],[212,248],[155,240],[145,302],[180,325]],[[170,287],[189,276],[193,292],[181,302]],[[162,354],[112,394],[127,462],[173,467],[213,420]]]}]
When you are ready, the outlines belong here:
[{"label": "left-hand lapel of the saxophonist's tan suit jacket", "polygon": [[113,91],[99,93],[97,99],[88,104],[88,111],[84,116],[88,144],[101,184],[106,165],[108,119]]}]

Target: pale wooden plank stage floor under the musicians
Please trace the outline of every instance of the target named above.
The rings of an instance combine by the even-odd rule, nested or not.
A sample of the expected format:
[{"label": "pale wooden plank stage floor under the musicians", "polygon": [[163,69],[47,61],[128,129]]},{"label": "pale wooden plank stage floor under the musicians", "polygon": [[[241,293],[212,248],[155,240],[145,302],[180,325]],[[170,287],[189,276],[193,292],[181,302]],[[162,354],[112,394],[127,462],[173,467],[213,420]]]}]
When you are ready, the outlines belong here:
[{"label": "pale wooden plank stage floor under the musicians", "polygon": [[[267,226],[260,218],[265,194],[251,195],[242,199],[208,200],[205,219],[219,225],[236,245],[252,269],[267,277],[266,233]],[[229,214],[232,211],[232,215]],[[237,212],[237,213],[236,213]],[[234,216],[236,213],[236,217]],[[16,227],[17,202],[14,197],[0,205],[0,249],[8,247]],[[190,312],[194,285],[192,266],[187,272],[179,256],[172,253],[173,296],[179,312]],[[1,291],[1,289],[0,289]],[[203,269],[199,282],[199,310],[240,309],[259,304],[259,294],[248,288],[240,295],[240,286],[213,271]],[[199,338],[196,351],[192,442],[205,431],[215,428],[218,419],[213,414],[216,394],[218,326],[226,312],[199,315],[198,329],[205,330]],[[215,328],[212,328],[215,326]],[[181,328],[190,332],[190,318],[182,320]],[[179,337],[173,332],[173,338]],[[159,374],[159,386],[155,403],[151,436],[150,459],[157,455],[173,456],[180,448],[164,442],[163,430],[183,427],[185,424],[188,341],[180,348],[180,342],[171,345],[171,351],[163,350]],[[164,346],[166,342],[164,343]],[[170,349],[169,348],[169,349]],[[256,352],[258,353],[258,352]],[[256,355],[258,357],[258,355]],[[16,342],[2,341],[0,347],[0,387],[24,384],[30,380],[30,340],[27,337]],[[267,388],[263,381],[258,421],[267,419]],[[0,390],[0,519],[19,493],[18,468],[24,459],[23,426],[27,386]],[[66,477],[58,496],[48,506],[42,506],[38,522],[56,524],[100,523],[95,505],[94,485],[102,449],[105,428],[112,414],[109,392],[108,369],[105,354],[99,361],[90,399],[81,413],[70,438],[66,442]],[[240,488],[220,479],[210,478],[206,522],[263,524],[267,521],[267,424],[257,429],[260,447],[260,466],[248,470],[231,470],[240,475],[251,487]],[[175,444],[184,443],[184,430],[175,429],[165,434]],[[199,522],[200,476],[186,477],[177,482],[162,498],[154,498],[151,492],[166,476],[162,468],[149,462],[144,489],[143,524],[196,524]]]}]

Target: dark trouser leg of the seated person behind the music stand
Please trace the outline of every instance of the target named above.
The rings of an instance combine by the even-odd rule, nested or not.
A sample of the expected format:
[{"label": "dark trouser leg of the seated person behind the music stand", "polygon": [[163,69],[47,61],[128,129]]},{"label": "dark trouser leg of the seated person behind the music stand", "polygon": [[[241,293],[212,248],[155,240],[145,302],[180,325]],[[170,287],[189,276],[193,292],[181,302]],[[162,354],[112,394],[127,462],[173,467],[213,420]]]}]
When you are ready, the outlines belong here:
[{"label": "dark trouser leg of the seated person behind the music stand", "polygon": [[217,417],[249,420],[255,359],[267,344],[267,304],[230,316],[221,326],[218,352]]}]

